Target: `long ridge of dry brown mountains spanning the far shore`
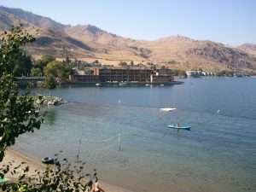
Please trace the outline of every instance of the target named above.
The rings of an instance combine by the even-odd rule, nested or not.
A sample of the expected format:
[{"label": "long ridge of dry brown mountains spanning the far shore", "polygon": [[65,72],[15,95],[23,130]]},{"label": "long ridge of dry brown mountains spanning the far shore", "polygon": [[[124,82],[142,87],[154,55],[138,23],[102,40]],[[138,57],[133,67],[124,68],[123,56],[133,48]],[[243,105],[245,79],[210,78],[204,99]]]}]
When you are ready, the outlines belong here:
[{"label": "long ridge of dry brown mountains spanning the far shore", "polygon": [[84,61],[101,61],[117,65],[119,61],[156,63],[170,68],[191,70],[256,71],[256,45],[242,44],[236,48],[212,41],[198,41],[183,36],[155,41],[123,38],[91,25],[63,25],[50,18],[22,9],[0,7],[0,30],[23,23],[28,32],[39,28],[35,44],[26,49],[35,57],[49,54],[69,56]]}]

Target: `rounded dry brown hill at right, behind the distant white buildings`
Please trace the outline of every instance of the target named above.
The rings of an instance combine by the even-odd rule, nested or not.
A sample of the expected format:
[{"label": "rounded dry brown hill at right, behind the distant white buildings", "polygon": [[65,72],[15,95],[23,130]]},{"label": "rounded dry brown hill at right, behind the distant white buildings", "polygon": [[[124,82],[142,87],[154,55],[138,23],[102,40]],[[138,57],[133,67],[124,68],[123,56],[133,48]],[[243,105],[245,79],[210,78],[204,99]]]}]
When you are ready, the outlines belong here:
[{"label": "rounded dry brown hill at right, behind the distant white buildings", "polygon": [[172,67],[204,70],[256,69],[256,58],[241,49],[211,41],[195,41],[182,36],[161,38],[143,44],[151,49],[155,62],[168,62]]}]

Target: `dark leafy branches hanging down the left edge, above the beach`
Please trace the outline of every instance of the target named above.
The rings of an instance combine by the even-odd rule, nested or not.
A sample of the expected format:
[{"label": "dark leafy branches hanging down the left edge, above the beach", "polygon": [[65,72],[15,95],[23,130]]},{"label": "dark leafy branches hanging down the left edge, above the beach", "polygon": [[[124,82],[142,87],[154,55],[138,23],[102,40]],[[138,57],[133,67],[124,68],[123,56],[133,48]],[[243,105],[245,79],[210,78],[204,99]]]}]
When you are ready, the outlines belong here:
[{"label": "dark leafy branches hanging down the left edge, above the beach", "polygon": [[20,52],[20,47],[33,42],[35,38],[15,26],[11,32],[4,32],[0,46],[0,162],[4,151],[15,144],[16,137],[27,131],[39,129],[42,118],[37,112],[32,97],[19,96],[15,78],[10,75],[11,58]]}]

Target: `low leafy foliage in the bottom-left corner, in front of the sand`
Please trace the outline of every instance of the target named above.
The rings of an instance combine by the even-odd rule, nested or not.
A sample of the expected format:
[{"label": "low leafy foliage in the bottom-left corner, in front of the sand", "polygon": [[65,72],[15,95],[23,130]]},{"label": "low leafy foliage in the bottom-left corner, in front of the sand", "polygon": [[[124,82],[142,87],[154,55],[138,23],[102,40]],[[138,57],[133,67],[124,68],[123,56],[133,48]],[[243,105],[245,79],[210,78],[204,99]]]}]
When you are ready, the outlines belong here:
[{"label": "low leafy foliage in the bottom-left corner, in front of the sand", "polygon": [[61,163],[55,154],[55,165],[47,166],[45,171],[31,170],[26,163],[15,166],[15,162],[3,166],[2,172],[11,173],[18,177],[17,183],[3,183],[3,191],[17,191],[24,189],[26,192],[80,192],[92,188],[93,181],[97,182],[96,170],[93,174],[84,173],[85,163],[71,163],[64,158]]}]

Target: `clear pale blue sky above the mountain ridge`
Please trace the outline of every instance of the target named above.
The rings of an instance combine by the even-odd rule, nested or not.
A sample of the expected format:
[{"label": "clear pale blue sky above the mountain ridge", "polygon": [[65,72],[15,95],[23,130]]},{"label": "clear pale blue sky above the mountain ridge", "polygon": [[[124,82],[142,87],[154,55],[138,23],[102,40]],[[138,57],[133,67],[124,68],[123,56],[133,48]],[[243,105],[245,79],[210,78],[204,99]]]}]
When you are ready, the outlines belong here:
[{"label": "clear pale blue sky above the mountain ridge", "polygon": [[91,24],[125,38],[183,35],[256,44],[256,0],[1,0],[62,24]]}]

